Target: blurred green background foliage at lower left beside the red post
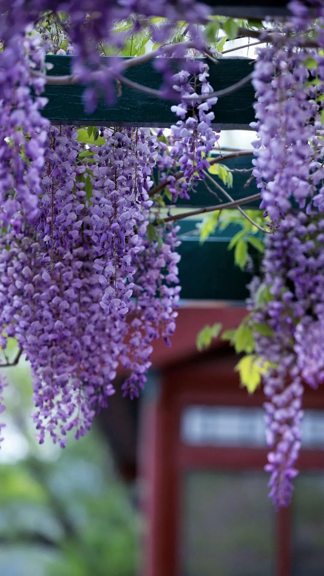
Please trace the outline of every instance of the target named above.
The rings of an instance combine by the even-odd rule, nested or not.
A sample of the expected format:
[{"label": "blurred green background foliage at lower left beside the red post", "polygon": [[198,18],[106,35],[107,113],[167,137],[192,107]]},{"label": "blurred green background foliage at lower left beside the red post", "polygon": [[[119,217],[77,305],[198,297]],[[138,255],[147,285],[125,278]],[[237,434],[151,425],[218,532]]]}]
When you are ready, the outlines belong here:
[{"label": "blurred green background foliage at lower left beside the red post", "polygon": [[4,372],[1,576],[133,576],[141,520],[134,486],[116,475],[107,439],[94,428],[64,450],[49,438],[39,446],[28,363],[22,358]]}]

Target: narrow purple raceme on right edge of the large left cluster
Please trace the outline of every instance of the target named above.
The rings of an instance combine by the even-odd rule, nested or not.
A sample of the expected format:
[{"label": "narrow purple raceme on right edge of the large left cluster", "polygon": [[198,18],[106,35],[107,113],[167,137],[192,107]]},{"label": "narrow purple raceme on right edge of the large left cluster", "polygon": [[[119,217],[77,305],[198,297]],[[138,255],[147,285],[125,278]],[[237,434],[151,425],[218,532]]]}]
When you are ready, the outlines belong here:
[{"label": "narrow purple raceme on right edge of the large left cluster", "polygon": [[129,340],[120,358],[131,371],[122,386],[124,396],[137,397],[144,388],[145,374],[151,365],[152,341],[162,336],[165,344],[171,346],[181,290],[177,286],[179,229],[179,226],[157,228],[157,239],[152,242],[146,239],[138,253],[131,307],[135,317],[130,322]]}]

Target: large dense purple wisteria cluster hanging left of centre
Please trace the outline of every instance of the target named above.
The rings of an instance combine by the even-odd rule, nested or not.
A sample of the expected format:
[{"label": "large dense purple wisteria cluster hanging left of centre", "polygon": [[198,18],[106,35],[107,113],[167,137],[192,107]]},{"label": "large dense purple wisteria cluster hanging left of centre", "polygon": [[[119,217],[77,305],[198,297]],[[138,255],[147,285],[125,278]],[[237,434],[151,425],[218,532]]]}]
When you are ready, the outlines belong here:
[{"label": "large dense purple wisteria cluster hanging left of centre", "polygon": [[[96,147],[86,197],[78,132],[50,126],[37,217],[23,210],[1,237],[2,347],[17,338],[32,367],[37,438],[65,446],[107,406],[121,363],[124,393],[137,396],[151,342],[169,344],[179,300],[178,228],[149,242],[149,175],[155,141],[148,129],[106,131]],[[79,159],[80,158],[80,159]]]}]

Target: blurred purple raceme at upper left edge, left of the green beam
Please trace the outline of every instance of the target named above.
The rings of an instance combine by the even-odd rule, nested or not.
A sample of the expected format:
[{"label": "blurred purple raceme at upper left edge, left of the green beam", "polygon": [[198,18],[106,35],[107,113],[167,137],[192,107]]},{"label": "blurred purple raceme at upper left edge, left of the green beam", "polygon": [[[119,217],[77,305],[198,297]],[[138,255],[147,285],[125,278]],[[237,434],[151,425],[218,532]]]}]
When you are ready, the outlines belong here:
[{"label": "blurred purple raceme at upper left edge, left of the green beam", "polygon": [[40,114],[46,98],[44,80],[31,78],[31,62],[40,65],[37,43],[13,36],[0,53],[0,219],[3,226],[24,210],[29,222],[37,215],[44,142],[48,121]]}]

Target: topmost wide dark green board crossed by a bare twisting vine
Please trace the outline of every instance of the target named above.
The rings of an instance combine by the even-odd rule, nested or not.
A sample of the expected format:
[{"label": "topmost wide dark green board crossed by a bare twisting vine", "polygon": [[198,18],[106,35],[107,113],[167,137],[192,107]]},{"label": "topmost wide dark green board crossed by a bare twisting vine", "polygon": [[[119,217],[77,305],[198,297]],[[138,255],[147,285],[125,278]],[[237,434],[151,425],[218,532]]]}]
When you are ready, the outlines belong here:
[{"label": "topmost wide dark green board crossed by a bare twisting vine", "polygon": [[[70,74],[73,56],[47,56],[47,62],[54,65],[51,75]],[[109,65],[110,58],[103,56]],[[181,68],[181,60],[173,60],[173,65]],[[218,65],[208,61],[210,84],[215,90],[226,88],[244,78],[252,70],[253,60],[248,58],[221,58]],[[130,68],[126,77],[159,89],[162,77],[152,62]],[[171,100],[146,96],[126,86],[122,86],[122,96],[116,97],[113,104],[106,105],[101,99],[96,111],[87,115],[84,110],[82,93],[84,86],[46,86],[45,96],[49,102],[44,115],[55,124],[95,124],[97,126],[156,126],[168,127],[178,118],[171,112]],[[215,125],[221,128],[248,128],[254,120],[254,90],[251,84],[218,100],[213,107]]]}]

